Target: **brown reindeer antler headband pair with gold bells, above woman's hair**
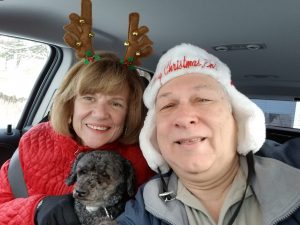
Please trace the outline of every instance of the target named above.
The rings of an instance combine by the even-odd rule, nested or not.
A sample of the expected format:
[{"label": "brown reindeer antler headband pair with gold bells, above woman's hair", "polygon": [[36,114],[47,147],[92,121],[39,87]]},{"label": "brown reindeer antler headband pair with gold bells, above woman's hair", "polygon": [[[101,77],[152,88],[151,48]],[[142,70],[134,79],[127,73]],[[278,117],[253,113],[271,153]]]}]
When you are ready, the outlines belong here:
[{"label": "brown reindeer antler headband pair with gold bells, above woman's hair", "polygon": [[[85,64],[99,60],[100,56],[95,55],[93,49],[94,33],[92,32],[92,2],[91,0],[81,1],[81,16],[76,13],[69,15],[70,24],[64,26],[66,31],[64,41],[75,49],[77,58],[84,58]],[[140,58],[147,57],[152,53],[153,42],[146,33],[148,27],[139,24],[139,14],[129,15],[128,40],[125,41],[126,52],[122,64],[129,68],[141,65]]]}]

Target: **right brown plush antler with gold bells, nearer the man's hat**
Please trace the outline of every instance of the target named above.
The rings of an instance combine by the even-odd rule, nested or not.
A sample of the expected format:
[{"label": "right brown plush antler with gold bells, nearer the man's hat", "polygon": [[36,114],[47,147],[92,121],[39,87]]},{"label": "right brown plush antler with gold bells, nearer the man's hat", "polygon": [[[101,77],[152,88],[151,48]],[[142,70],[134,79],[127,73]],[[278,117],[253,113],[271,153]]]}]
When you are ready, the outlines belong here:
[{"label": "right brown plush antler with gold bells, nearer the man's hat", "polygon": [[149,31],[146,26],[139,26],[139,14],[134,12],[129,14],[128,41],[124,43],[126,52],[125,62],[133,62],[134,65],[141,65],[140,58],[146,57],[152,53],[153,42],[146,33]]}]

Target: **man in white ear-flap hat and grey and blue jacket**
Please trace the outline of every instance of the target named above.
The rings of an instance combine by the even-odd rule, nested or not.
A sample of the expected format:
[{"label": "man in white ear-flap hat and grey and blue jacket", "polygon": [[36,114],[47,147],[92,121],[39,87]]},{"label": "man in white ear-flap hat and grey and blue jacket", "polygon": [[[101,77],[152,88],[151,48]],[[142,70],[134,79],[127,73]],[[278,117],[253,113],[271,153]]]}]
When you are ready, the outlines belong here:
[{"label": "man in white ear-flap hat and grey and blue jacket", "polygon": [[300,224],[300,170],[253,156],[265,141],[264,114],[219,59],[175,46],[161,57],[144,102],[140,145],[160,176],[118,224]]}]

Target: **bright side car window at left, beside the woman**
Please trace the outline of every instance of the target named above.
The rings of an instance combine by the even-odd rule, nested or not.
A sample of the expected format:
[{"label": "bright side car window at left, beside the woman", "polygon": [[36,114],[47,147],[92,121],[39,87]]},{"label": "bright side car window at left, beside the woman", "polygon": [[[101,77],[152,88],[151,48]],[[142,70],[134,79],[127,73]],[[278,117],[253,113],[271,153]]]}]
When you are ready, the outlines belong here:
[{"label": "bright side car window at left, beside the woman", "polygon": [[50,47],[0,35],[0,128],[16,127]]}]

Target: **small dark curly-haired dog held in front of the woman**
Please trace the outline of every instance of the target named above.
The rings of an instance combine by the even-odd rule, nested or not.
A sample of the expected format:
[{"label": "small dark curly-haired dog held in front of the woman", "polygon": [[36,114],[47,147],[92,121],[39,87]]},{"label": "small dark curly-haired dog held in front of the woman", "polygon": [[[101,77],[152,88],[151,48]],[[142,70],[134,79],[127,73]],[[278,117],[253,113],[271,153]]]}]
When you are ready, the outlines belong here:
[{"label": "small dark curly-haired dog held in front of the woman", "polygon": [[75,183],[75,212],[82,225],[115,224],[107,222],[107,212],[116,218],[135,191],[130,161],[113,151],[80,153],[66,183]]}]

